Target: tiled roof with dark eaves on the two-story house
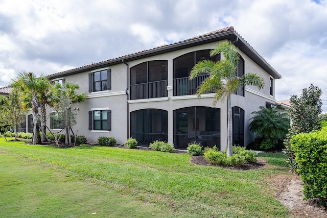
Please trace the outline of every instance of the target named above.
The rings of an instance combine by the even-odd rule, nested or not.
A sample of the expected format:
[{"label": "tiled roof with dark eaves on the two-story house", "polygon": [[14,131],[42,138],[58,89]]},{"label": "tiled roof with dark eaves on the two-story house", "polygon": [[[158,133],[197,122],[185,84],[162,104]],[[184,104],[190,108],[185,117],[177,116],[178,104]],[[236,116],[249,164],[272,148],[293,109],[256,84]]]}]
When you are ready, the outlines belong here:
[{"label": "tiled roof with dark eaves on the two-story house", "polygon": [[226,27],[220,30],[216,30],[183,41],[171,43],[168,45],[160,45],[154,47],[153,49],[143,50],[141,52],[136,52],[122,57],[107,59],[104,61],[100,61],[98,63],[91,63],[74,69],[57,72],[56,74],[52,74],[47,77],[49,79],[55,79],[57,77],[78,74],[79,72],[83,72],[86,70],[94,70],[101,67],[108,67],[110,65],[114,65],[118,63],[124,63],[132,60],[137,60],[137,59],[146,58],[154,55],[164,54],[167,52],[173,52],[180,49],[185,49],[186,47],[192,47],[195,45],[201,45],[201,44],[206,44],[206,43],[226,40],[226,39],[234,42],[234,44],[242,52],[244,52],[248,57],[250,57],[255,63],[257,63],[263,69],[265,69],[273,78],[275,79],[282,78],[282,76],[279,75],[278,72],[272,66],[270,66],[268,62],[258,52],[256,52],[247,41],[245,41],[236,31],[234,31],[233,27]]}]

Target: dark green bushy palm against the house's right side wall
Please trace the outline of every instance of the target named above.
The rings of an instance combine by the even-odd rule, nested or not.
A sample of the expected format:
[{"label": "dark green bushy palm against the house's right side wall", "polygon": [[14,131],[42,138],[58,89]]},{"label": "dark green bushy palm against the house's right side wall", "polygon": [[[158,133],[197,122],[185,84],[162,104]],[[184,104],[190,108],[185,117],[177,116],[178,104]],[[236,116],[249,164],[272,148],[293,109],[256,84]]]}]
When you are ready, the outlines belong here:
[{"label": "dark green bushy palm against the house's right side wall", "polygon": [[250,118],[250,131],[256,133],[256,140],[261,141],[260,149],[281,148],[290,128],[288,112],[279,106],[259,108],[259,111],[252,112],[254,116]]}]

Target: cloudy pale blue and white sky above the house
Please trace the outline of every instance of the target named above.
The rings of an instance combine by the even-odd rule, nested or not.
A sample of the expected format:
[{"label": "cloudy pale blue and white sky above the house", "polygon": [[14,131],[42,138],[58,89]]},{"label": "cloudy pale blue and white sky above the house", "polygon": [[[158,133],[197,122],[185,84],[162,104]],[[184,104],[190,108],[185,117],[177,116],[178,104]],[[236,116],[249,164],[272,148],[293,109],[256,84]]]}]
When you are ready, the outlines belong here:
[{"label": "cloudy pale blue and white sky above the house", "polygon": [[0,0],[0,87],[229,26],[282,75],[276,100],[313,83],[327,112],[327,0]]}]

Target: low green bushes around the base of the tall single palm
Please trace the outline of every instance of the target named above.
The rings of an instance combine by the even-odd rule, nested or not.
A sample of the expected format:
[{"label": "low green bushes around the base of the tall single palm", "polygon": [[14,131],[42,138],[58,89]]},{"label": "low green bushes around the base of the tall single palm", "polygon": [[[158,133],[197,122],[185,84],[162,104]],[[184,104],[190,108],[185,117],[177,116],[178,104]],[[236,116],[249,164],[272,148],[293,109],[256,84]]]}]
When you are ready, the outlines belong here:
[{"label": "low green bushes around the base of the tall single palm", "polygon": [[223,152],[217,149],[206,149],[204,158],[213,165],[240,166],[244,163],[255,162],[258,154],[245,150],[244,147],[233,146],[233,155],[227,155],[227,149]]}]

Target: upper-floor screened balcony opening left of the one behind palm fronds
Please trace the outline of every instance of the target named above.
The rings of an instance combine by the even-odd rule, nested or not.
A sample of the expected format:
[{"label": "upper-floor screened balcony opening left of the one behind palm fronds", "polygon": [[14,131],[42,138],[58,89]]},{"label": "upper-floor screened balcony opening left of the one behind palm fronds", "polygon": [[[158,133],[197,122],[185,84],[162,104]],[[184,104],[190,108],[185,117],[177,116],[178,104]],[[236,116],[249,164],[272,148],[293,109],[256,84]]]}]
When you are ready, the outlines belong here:
[{"label": "upper-floor screened balcony opening left of the one behind palm fronds", "polygon": [[147,61],[130,68],[130,99],[167,97],[167,60]]}]

